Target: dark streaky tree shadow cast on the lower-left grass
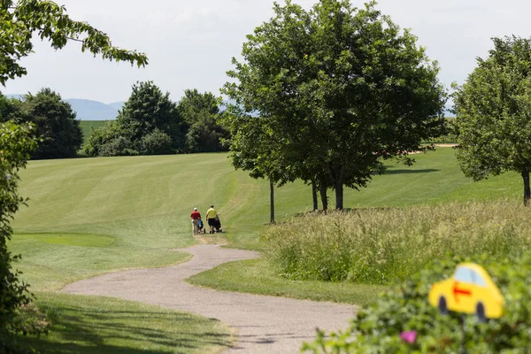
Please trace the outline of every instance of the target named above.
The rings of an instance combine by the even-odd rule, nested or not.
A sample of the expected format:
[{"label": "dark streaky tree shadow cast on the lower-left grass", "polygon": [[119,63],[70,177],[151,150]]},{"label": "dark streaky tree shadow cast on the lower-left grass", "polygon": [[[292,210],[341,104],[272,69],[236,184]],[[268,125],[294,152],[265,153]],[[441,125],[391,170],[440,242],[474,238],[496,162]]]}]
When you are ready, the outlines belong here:
[{"label": "dark streaky tree shadow cast on the lower-left grass", "polygon": [[58,305],[49,313],[49,336],[21,339],[43,354],[187,353],[232,344],[230,335],[212,333],[216,320],[179,312],[109,312]]}]

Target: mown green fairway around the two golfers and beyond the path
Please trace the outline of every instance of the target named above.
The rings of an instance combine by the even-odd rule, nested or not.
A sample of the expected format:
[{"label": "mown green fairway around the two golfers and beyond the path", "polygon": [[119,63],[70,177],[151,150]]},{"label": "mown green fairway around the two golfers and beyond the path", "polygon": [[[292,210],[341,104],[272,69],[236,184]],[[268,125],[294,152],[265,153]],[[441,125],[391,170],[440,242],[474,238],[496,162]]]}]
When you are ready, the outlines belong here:
[{"label": "mown green fairway around the two golfers and beyond the path", "polygon": [[[449,148],[415,158],[418,163],[412,167],[389,163],[388,173],[374,176],[367,189],[347,189],[345,207],[520,197],[516,173],[474,183],[458,170]],[[235,172],[225,153],[31,161],[21,177],[20,192],[30,199],[28,207],[16,215],[10,249],[22,254],[16,267],[36,291],[61,289],[68,282],[99,273],[186,260],[188,255],[174,249],[195,243],[189,222],[194,207],[206,212],[210,204],[216,205],[231,246],[263,247],[259,235],[269,221],[269,185]],[[311,192],[302,182],[277,189],[277,220],[310,211]],[[330,196],[334,205],[332,191]],[[219,266],[193,281],[229,290],[357,304],[370,302],[378,293],[344,284],[286,281],[266,269],[263,261],[242,265]],[[42,294],[42,298],[48,296]],[[57,298],[50,308],[59,308],[63,302],[82,308],[85,301]],[[104,307],[100,309],[104,313]],[[78,312],[80,320],[90,321],[89,312],[87,318],[83,313]]]}]

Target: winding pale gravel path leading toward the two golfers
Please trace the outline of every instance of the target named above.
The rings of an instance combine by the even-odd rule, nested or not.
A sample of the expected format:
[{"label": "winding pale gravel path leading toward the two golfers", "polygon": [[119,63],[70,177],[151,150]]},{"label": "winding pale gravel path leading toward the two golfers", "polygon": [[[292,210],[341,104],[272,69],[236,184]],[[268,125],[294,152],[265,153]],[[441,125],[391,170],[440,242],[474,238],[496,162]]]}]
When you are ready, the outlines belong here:
[{"label": "winding pale gravel path leading toward the two golfers", "polygon": [[312,341],[315,327],[330,331],[349,325],[356,308],[284,297],[204,289],[184,280],[233,260],[257,258],[256,252],[205,244],[183,251],[194,257],[178,266],[109,273],[69,284],[68,294],[112,296],[219,319],[235,328],[237,342],[227,353],[297,353]]}]

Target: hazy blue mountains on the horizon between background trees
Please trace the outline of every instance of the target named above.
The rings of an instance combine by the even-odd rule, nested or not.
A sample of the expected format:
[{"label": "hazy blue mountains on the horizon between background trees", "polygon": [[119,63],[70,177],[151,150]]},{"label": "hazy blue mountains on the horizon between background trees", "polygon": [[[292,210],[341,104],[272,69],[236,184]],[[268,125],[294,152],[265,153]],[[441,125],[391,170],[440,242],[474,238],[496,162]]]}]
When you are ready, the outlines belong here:
[{"label": "hazy blue mountains on the horizon between background trees", "polygon": [[[12,98],[23,99],[24,95],[5,95]],[[68,102],[73,111],[76,112],[77,119],[81,120],[112,120],[116,119],[119,110],[122,109],[125,102],[113,102],[112,104],[104,104],[99,101],[92,101],[80,98],[68,98],[64,100]]]}]

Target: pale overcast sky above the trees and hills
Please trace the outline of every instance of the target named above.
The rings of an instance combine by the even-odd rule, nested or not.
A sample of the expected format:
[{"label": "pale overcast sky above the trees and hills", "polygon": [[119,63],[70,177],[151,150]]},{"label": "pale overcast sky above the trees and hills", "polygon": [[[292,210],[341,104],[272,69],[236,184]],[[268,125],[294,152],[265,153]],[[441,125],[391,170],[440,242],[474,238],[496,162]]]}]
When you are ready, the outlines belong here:
[{"label": "pale overcast sky above the trees and hills", "polygon": [[[283,3],[284,0],[280,0]],[[22,60],[28,74],[8,81],[5,94],[50,87],[63,98],[104,103],[126,101],[136,81],[154,81],[178,101],[185,89],[210,91],[228,80],[231,58],[240,58],[245,35],[273,15],[272,0],[58,0],[73,19],[88,21],[114,45],[148,55],[145,68],[81,53],[71,42],[52,50],[35,40],[35,53]],[[314,0],[293,0],[309,8]],[[355,6],[364,1],[351,0]],[[378,8],[400,27],[411,28],[419,45],[441,66],[450,89],[466,80],[492,47],[491,37],[531,36],[526,0],[380,0]]]}]

